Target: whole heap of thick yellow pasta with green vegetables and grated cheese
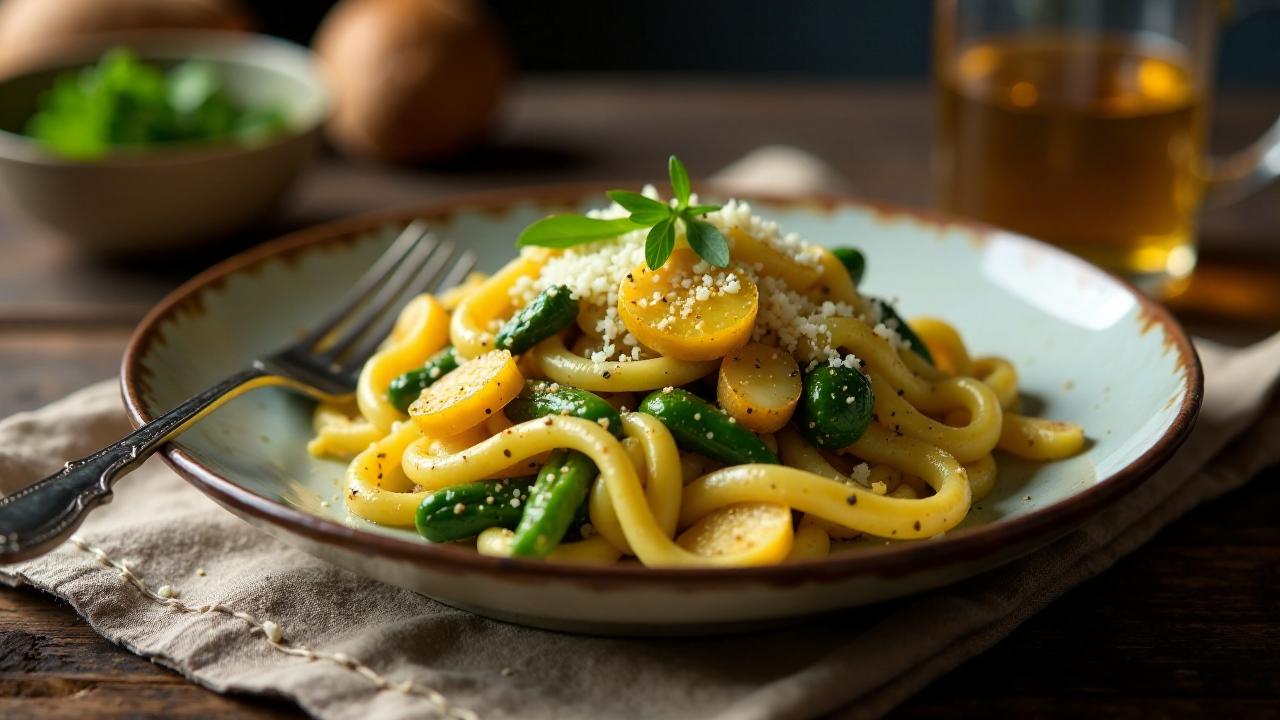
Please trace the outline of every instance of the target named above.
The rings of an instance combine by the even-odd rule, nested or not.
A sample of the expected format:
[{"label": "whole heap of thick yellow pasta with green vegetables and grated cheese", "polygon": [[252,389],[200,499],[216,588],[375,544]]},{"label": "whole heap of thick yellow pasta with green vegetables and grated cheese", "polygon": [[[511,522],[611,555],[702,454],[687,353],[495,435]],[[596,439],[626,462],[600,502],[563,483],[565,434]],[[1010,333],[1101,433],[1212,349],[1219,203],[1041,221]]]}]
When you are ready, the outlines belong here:
[{"label": "whole heap of thick yellow pasta with green vegetables and grated cheese", "polygon": [[[727,268],[677,249],[650,270],[641,229],[525,249],[411,301],[355,402],[315,411],[308,448],[349,460],[351,512],[428,537],[438,523],[494,556],[801,561],[833,541],[955,528],[998,483],[993,452],[1047,461],[1083,447],[1080,427],[1018,413],[1010,361],[970,356],[945,320],[899,320],[835,252],[742,202],[705,220],[730,238]],[[449,346],[457,369],[413,375]],[[397,378],[421,386],[407,410],[388,391]],[[726,383],[732,405],[713,400]]]}]

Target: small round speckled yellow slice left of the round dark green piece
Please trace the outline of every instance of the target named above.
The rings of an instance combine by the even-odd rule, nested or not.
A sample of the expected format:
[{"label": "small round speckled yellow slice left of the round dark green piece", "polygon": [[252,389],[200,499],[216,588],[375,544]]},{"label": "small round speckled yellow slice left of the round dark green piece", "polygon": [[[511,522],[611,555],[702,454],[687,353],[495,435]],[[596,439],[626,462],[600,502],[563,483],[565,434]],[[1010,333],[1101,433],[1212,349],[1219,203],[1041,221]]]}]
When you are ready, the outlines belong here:
[{"label": "small round speckled yellow slice left of the round dark green piece", "polygon": [[716,400],[758,433],[780,430],[800,401],[800,366],[790,352],[753,342],[724,356]]}]

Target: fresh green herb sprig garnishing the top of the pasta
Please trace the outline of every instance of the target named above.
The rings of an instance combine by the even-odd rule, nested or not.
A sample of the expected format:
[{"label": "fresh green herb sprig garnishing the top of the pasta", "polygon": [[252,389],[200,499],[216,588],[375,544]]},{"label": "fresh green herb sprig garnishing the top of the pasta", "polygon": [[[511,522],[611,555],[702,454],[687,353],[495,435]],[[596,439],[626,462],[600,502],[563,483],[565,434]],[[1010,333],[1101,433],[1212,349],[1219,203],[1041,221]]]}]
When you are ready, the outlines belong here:
[{"label": "fresh green herb sprig garnishing the top of the pasta", "polygon": [[645,236],[644,259],[650,270],[657,270],[667,263],[676,249],[678,223],[684,225],[689,246],[699,258],[717,268],[727,266],[728,241],[716,225],[699,219],[707,213],[719,210],[719,205],[689,204],[691,192],[689,170],[680,158],[672,155],[667,160],[667,174],[671,178],[671,191],[676,196],[675,208],[639,192],[611,190],[607,195],[626,209],[628,217],[600,220],[584,215],[552,215],[525,228],[516,245],[564,249],[649,228],[649,234]]}]

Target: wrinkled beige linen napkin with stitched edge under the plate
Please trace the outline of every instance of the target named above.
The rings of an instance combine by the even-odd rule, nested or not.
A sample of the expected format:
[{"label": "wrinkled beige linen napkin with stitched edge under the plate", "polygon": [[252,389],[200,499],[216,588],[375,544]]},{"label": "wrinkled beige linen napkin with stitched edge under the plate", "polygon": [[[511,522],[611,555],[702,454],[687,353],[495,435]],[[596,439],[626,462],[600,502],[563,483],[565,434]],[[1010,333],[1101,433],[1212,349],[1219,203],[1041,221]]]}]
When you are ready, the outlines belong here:
[{"label": "wrinkled beige linen napkin with stitched edge under the plate", "polygon": [[[1028,557],[841,623],[617,639],[490,621],[294,551],[157,460],[124,478],[76,542],[0,579],[67,600],[104,637],[214,691],[287,697],[324,719],[876,717],[1280,461],[1280,334],[1197,347],[1201,419],[1153,478]],[[127,432],[116,393],[109,380],[0,421],[0,492]]]}]

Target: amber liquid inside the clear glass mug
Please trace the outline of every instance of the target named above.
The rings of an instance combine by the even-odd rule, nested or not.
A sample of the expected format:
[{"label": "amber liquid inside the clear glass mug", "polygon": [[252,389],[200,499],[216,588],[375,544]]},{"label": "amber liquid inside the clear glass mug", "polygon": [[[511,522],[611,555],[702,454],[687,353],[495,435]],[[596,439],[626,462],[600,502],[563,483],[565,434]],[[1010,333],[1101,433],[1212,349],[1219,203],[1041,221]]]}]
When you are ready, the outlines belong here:
[{"label": "amber liquid inside the clear glass mug", "polygon": [[1196,264],[1204,101],[1188,64],[1117,38],[1019,37],[940,68],[951,211],[1167,291]]}]

